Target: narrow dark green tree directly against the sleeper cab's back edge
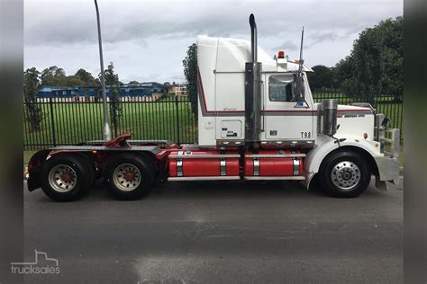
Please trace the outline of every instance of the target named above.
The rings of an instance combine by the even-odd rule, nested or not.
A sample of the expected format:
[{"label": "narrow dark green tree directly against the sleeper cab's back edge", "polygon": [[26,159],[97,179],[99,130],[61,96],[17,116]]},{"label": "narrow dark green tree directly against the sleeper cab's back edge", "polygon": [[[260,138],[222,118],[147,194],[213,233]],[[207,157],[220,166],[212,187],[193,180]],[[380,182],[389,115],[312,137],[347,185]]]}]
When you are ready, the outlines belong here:
[{"label": "narrow dark green tree directly against the sleeper cab's back edge", "polygon": [[186,58],[182,60],[182,64],[184,65],[184,75],[186,75],[186,89],[191,102],[191,110],[197,118],[197,45],[195,43],[188,47]]}]

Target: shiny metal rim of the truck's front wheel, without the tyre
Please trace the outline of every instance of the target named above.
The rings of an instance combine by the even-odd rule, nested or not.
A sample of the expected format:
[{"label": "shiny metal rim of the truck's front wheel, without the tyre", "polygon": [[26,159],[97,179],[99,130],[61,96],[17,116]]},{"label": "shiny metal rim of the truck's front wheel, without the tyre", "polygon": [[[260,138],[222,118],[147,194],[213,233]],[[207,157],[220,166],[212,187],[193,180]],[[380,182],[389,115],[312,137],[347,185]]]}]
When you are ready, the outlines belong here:
[{"label": "shiny metal rim of the truck's front wheel, without the tyre", "polygon": [[343,161],[332,168],[332,183],[343,191],[350,191],[360,182],[360,169],[357,164]]}]

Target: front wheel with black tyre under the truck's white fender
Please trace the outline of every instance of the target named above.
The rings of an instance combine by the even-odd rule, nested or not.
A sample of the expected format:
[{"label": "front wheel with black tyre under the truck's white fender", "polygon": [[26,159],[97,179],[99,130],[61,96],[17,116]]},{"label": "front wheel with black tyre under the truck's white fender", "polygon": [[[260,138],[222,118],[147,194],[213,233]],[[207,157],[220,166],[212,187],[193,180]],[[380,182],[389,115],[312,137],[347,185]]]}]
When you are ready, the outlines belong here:
[{"label": "front wheel with black tyre under the truck's white fender", "polygon": [[354,152],[337,152],[327,156],[321,165],[323,190],[334,197],[353,198],[366,191],[371,170],[363,157]]}]

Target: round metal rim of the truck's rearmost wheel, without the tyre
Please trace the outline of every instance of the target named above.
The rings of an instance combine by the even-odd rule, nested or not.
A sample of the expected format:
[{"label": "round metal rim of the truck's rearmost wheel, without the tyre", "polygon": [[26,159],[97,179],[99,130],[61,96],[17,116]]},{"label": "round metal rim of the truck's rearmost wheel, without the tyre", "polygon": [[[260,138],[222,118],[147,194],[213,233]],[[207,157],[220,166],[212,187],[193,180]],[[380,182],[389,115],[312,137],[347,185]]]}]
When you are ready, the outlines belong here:
[{"label": "round metal rim of the truck's rearmost wheel, without the tyre", "polygon": [[54,191],[68,192],[76,186],[77,173],[67,164],[58,164],[50,170],[48,179]]}]

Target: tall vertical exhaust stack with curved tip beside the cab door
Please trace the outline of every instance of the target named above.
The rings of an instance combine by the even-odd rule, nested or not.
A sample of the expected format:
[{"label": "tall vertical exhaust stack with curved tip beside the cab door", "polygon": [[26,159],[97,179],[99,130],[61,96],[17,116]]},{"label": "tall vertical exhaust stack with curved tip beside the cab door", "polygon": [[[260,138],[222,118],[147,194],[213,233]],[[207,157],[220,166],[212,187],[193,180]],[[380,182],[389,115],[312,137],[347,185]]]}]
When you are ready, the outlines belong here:
[{"label": "tall vertical exhaust stack with curved tip beside the cab door", "polygon": [[257,24],[250,14],[251,61],[245,64],[245,144],[259,147],[261,131],[261,71],[258,62]]}]

